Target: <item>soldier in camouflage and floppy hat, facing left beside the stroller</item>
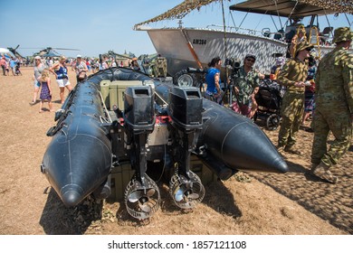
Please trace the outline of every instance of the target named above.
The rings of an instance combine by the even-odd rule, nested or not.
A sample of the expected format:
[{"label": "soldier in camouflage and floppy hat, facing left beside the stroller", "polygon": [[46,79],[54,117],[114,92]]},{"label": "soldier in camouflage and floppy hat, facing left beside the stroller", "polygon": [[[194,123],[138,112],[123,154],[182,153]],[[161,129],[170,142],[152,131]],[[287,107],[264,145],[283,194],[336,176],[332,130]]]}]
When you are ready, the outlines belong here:
[{"label": "soldier in camouflage and floppy hat, facing left beside the stroller", "polygon": [[281,105],[281,129],[278,136],[278,151],[301,155],[295,148],[296,135],[301,126],[301,118],[304,113],[305,80],[308,77],[308,64],[306,59],[310,57],[313,48],[308,42],[303,41],[297,45],[295,58],[287,61],[277,81],[287,88]]}]

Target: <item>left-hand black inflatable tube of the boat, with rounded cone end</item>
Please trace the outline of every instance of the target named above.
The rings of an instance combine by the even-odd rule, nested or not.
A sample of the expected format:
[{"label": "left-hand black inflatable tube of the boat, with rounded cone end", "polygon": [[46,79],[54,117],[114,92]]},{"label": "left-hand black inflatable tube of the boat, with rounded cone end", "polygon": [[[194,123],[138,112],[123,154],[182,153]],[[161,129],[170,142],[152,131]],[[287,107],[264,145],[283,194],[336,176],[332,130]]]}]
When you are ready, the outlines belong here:
[{"label": "left-hand black inflatable tube of the boat, with rounded cone end", "polygon": [[78,204],[104,183],[111,167],[99,90],[90,82],[76,89],[67,116],[56,126],[43,156],[43,173],[67,206]]}]

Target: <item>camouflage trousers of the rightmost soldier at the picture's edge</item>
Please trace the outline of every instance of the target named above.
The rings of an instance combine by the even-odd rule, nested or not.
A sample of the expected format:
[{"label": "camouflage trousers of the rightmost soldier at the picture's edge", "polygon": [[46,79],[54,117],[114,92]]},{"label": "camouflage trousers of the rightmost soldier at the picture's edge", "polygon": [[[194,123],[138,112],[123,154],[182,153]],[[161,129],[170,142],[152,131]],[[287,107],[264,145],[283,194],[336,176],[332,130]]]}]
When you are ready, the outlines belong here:
[{"label": "camouflage trousers of the rightmost soldier at the picture's edge", "polygon": [[[315,108],[313,125],[314,141],[311,163],[320,164],[322,162],[329,166],[337,164],[339,158],[347,152],[352,139],[352,120],[347,106],[318,106]],[[332,132],[335,140],[328,150],[329,131]]]}]

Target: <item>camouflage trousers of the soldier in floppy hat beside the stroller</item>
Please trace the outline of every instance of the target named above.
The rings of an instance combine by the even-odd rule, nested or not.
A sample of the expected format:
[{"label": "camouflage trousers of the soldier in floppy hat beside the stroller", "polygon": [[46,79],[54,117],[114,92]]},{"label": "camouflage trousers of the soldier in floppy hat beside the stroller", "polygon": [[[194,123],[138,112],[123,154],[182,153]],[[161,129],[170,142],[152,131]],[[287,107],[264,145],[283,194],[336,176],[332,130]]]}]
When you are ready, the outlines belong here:
[{"label": "camouflage trousers of the soldier in floppy hat beside the stroller", "polygon": [[278,134],[279,146],[295,145],[304,113],[304,99],[304,92],[284,93],[281,105],[281,128]]}]

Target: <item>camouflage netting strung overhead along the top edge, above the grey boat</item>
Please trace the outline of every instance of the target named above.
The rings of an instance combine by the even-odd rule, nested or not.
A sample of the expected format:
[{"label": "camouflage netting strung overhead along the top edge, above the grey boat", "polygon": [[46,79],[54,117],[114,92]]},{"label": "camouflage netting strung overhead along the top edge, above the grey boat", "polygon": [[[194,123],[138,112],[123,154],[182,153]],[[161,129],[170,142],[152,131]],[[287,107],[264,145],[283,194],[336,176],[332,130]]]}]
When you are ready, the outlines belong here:
[{"label": "camouflage netting strung overhead along the top edge, above the grey boat", "polygon": [[[145,23],[153,23],[166,19],[182,19],[189,14],[191,11],[200,8],[204,5],[209,5],[213,2],[221,2],[222,0],[186,0],[180,5],[176,5],[174,8],[168,10],[164,14],[157,15],[145,22],[135,24],[135,27]],[[231,0],[224,0],[231,1]],[[324,9],[332,9],[338,13],[353,14],[352,0],[298,0],[301,3],[320,6]]]}]

